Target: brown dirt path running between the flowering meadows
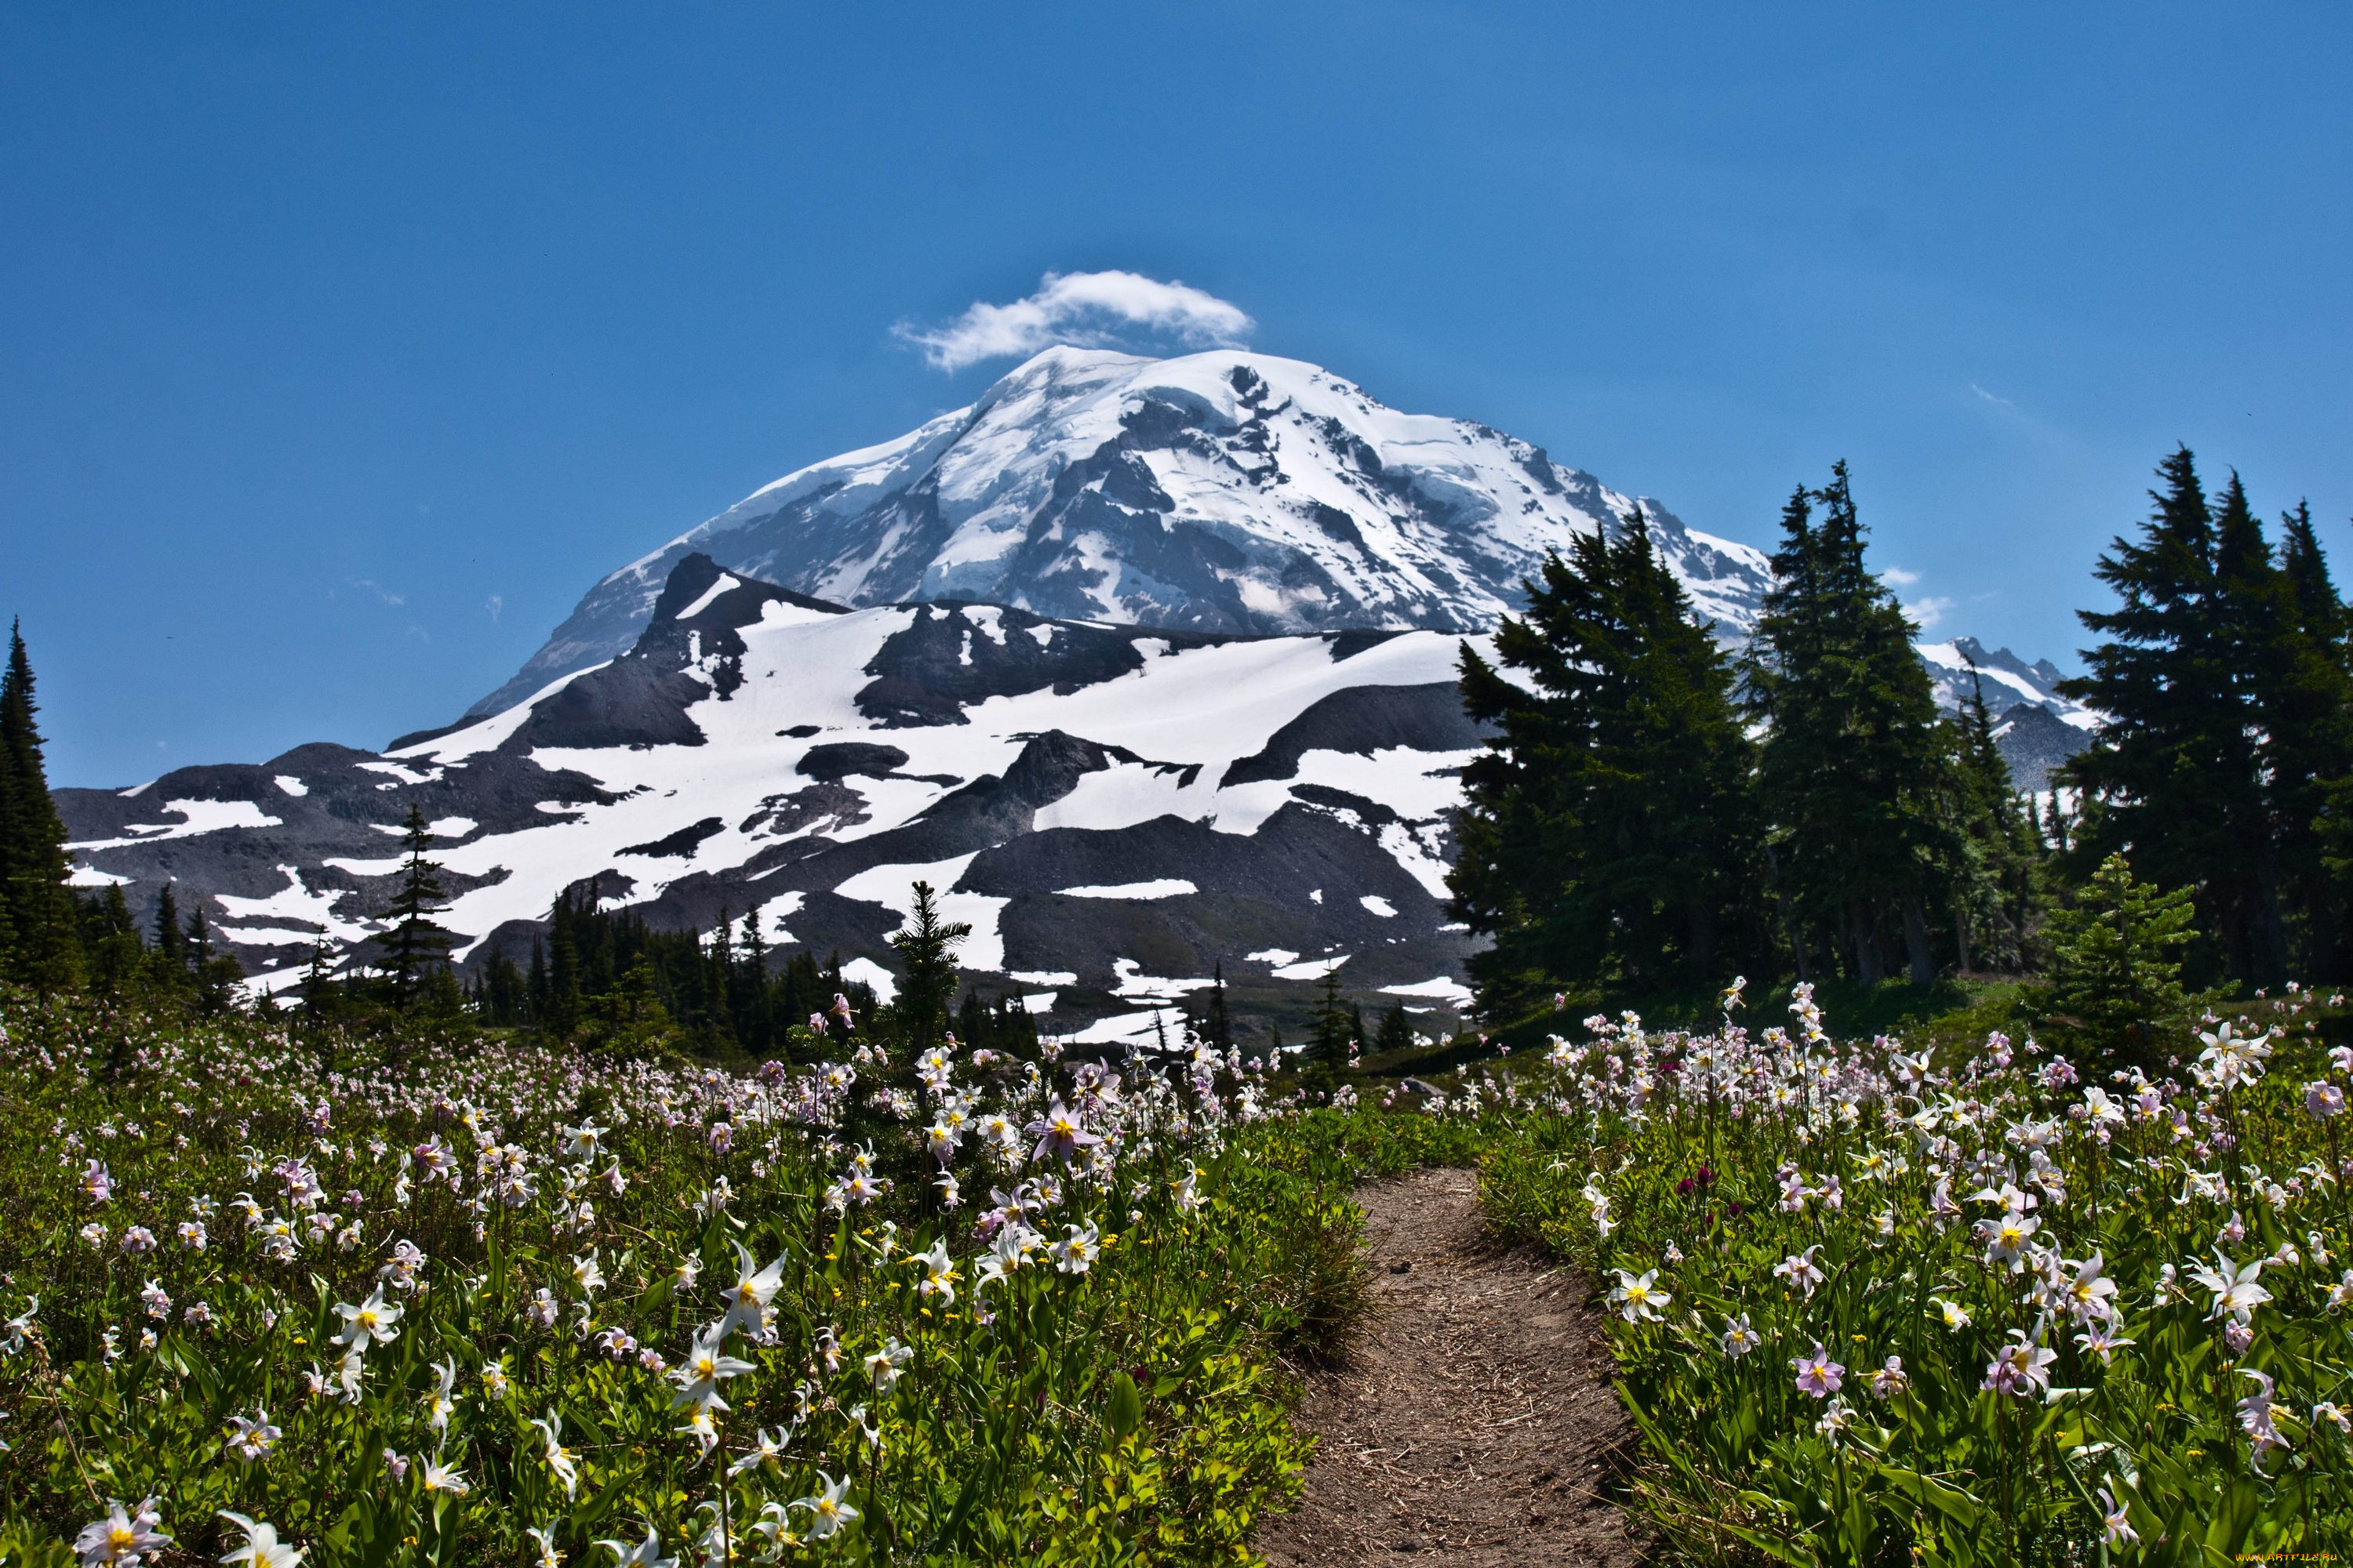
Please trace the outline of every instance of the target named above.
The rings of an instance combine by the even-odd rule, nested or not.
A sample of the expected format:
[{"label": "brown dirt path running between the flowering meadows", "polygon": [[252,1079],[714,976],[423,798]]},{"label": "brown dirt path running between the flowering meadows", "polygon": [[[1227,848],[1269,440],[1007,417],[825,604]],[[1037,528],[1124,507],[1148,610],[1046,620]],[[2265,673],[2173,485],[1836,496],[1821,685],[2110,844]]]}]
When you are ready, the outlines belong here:
[{"label": "brown dirt path running between the flowering meadows", "polygon": [[1268,1523],[1275,1568],[1642,1561],[1602,1500],[1633,1441],[1574,1279],[1480,1239],[1478,1175],[1417,1171],[1358,1192],[1374,1324],[1308,1380],[1322,1434],[1306,1495]]}]

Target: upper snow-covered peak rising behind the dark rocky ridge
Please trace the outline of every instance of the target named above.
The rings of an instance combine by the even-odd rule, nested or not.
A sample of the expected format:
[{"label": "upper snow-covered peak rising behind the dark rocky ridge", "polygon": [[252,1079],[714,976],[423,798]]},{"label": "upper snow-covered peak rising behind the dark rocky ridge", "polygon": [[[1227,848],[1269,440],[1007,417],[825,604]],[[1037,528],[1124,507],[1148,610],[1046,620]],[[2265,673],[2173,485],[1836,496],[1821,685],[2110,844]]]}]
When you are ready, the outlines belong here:
[{"label": "upper snow-covered peak rising behind the dark rocky ridge", "polygon": [[[1487,630],[1631,496],[1315,364],[1049,348],[979,402],[814,463],[621,567],[473,715],[635,644],[692,552],[840,604],[976,599],[1202,632]],[[1699,611],[1746,628],[1765,557],[1642,501]]]}]

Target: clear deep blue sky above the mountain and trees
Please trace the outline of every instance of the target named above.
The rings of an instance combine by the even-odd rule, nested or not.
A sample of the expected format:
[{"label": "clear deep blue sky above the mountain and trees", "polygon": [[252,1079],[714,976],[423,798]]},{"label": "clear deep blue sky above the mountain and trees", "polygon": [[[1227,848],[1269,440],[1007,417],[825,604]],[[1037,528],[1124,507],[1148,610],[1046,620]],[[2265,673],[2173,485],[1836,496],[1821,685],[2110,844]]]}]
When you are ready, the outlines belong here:
[{"label": "clear deep blue sky above the mountain and trees", "polygon": [[[2353,555],[2341,7],[0,12],[0,611],[56,783],[456,717],[614,564],[972,397],[1049,273],[2071,663],[2177,440]],[[2353,571],[2353,567],[2346,567]]]}]

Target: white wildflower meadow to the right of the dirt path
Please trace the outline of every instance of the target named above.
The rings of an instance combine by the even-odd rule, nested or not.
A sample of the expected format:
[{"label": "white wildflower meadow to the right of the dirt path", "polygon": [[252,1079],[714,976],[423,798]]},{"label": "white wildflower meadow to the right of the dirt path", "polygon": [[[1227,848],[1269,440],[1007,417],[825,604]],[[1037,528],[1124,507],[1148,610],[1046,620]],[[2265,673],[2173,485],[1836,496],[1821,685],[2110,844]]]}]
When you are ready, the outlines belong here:
[{"label": "white wildflower meadow to the right of the dirt path", "polygon": [[1494,1222],[1595,1276],[1678,1549],[2231,1563],[2353,1542],[2332,1011],[2259,999],[2179,1070],[2094,1074],[1840,1044],[1798,987],[1755,1034],[1591,1018],[1457,1112]]}]

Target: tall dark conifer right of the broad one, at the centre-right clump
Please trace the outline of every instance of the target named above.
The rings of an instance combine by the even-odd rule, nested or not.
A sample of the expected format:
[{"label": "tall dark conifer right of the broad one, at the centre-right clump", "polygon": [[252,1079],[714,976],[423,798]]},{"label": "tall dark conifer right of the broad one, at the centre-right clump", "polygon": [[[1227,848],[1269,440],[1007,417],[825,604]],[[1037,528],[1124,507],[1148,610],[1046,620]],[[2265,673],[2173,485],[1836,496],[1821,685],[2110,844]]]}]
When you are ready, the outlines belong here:
[{"label": "tall dark conifer right of the broad one, at the centre-right clump", "polygon": [[1791,496],[1772,569],[1744,675],[1767,722],[1758,790],[1800,973],[1805,931],[1821,926],[1866,983],[1885,978],[1901,938],[1925,985],[1929,905],[1967,875],[1951,733],[1913,654],[1918,628],[1864,564],[1845,463],[1828,487]]}]

